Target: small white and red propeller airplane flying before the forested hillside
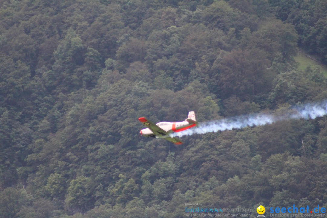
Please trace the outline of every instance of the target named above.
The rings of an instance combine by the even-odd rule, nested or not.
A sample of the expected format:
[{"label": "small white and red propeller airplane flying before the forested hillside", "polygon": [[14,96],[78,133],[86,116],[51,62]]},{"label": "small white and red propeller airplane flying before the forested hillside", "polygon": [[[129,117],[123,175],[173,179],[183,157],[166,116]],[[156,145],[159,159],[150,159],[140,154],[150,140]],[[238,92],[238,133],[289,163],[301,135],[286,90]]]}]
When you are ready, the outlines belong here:
[{"label": "small white and red propeller airplane flying before the forested hillside", "polygon": [[147,127],[140,131],[141,136],[162,138],[174,144],[182,144],[182,142],[176,137],[170,137],[169,134],[181,132],[198,125],[194,111],[188,112],[187,119],[182,122],[160,122],[154,124],[145,117],[140,117],[138,120]]}]

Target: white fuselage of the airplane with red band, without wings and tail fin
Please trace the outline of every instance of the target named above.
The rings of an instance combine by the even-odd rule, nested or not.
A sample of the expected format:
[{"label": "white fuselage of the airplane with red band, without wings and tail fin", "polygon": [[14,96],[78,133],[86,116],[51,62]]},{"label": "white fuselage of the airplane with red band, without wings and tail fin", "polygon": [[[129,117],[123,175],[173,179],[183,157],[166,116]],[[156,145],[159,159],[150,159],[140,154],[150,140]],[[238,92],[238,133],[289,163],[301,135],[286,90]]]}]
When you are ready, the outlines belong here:
[{"label": "white fuselage of the airplane with red band, without wings and tail fin", "polygon": [[[160,122],[157,123],[156,126],[159,126],[160,128],[162,128],[163,130],[165,130],[167,133],[173,133],[173,132],[180,132],[186,129],[189,129],[193,126],[195,126],[195,124],[193,123],[189,123],[188,121],[183,121],[183,122]],[[156,138],[162,138],[161,136],[155,136],[155,134],[149,129],[149,128],[145,128],[141,130],[141,135],[142,136],[146,136],[146,137],[156,137]]]}]

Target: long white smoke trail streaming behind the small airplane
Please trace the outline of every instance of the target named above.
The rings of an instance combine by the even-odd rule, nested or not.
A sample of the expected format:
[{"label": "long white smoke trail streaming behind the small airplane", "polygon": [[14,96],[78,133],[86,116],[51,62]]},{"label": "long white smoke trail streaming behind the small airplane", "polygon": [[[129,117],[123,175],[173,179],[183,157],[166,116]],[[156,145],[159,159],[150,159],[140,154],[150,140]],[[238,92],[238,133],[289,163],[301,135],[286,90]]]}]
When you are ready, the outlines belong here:
[{"label": "long white smoke trail streaming behind the small airplane", "polygon": [[231,129],[241,129],[247,126],[262,126],[277,121],[289,119],[315,119],[327,114],[327,100],[316,104],[305,104],[292,107],[287,111],[272,114],[250,114],[201,123],[196,128],[171,133],[170,137],[204,134]]}]

